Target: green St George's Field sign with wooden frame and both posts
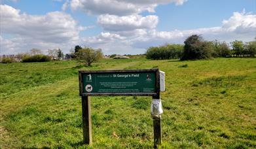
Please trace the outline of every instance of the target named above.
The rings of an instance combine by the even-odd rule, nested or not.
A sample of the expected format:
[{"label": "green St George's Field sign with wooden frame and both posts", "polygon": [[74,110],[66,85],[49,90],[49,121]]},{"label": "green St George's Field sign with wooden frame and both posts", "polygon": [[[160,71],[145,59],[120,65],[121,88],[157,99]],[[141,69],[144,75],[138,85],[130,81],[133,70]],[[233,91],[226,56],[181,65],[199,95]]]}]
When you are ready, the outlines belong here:
[{"label": "green St George's Field sign with wooden frame and both posts", "polygon": [[[85,144],[92,144],[90,96],[152,96],[160,100],[158,69],[79,71],[79,93],[82,96],[82,129]],[[154,146],[161,144],[161,118],[153,117]]]}]

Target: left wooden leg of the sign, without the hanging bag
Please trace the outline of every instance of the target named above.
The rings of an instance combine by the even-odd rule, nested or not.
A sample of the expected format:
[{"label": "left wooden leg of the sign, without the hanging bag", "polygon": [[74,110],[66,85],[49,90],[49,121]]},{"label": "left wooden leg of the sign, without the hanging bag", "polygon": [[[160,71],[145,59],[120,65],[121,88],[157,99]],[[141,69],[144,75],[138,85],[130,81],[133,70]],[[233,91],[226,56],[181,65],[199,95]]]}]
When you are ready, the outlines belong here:
[{"label": "left wooden leg of the sign, without the hanging bag", "polygon": [[90,114],[90,96],[82,96],[82,131],[85,144],[92,144],[92,120]]}]

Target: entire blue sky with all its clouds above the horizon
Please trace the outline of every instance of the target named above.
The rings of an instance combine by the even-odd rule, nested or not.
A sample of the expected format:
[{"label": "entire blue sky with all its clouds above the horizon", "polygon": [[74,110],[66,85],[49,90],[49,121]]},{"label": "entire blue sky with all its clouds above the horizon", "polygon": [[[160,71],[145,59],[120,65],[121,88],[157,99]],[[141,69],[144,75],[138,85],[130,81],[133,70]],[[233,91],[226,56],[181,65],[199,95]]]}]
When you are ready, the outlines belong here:
[{"label": "entire blue sky with all its clouds above the horizon", "polygon": [[[79,44],[104,54],[140,54],[192,34],[252,41],[255,0],[0,0],[1,54]],[[100,2],[100,3],[99,3]]]}]

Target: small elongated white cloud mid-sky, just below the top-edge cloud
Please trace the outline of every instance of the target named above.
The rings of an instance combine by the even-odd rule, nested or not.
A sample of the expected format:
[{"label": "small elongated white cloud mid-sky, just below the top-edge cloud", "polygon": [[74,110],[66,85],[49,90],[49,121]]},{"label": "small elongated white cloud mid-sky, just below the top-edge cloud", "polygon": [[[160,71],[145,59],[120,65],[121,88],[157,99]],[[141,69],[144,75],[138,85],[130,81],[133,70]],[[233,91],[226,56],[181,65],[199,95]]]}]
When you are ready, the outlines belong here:
[{"label": "small elongated white cloud mid-sky, just below the top-edge cloud", "polygon": [[107,31],[132,31],[134,29],[153,29],[158,24],[158,16],[115,16],[104,14],[98,16],[98,24]]}]

